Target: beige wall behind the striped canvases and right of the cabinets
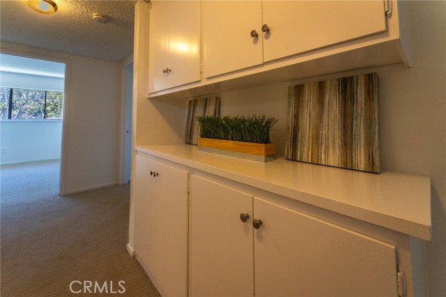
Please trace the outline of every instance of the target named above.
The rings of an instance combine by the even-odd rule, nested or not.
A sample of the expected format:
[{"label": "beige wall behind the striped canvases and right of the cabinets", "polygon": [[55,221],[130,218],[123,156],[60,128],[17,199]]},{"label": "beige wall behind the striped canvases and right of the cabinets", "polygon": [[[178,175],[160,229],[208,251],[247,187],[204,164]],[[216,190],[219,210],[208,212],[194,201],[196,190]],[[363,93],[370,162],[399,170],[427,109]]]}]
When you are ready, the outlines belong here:
[{"label": "beige wall behind the striped canvases and right of the cabinets", "polygon": [[[222,93],[221,112],[277,116],[279,131],[272,133],[272,141],[277,143],[277,154],[284,155],[289,85],[377,72],[383,171],[431,176],[433,241],[426,243],[429,296],[440,297],[446,292],[446,1],[410,1],[409,7],[413,68],[398,64]],[[423,251],[424,244],[418,245],[415,248]]]}]

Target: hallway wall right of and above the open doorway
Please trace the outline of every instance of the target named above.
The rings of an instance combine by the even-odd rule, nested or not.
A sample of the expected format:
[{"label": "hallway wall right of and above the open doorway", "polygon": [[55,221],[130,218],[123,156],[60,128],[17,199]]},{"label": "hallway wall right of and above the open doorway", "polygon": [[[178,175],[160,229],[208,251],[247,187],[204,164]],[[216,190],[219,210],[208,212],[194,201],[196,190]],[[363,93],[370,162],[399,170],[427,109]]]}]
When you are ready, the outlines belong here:
[{"label": "hallway wall right of and above the open doorway", "polygon": [[10,43],[1,43],[1,50],[68,63],[62,192],[116,184],[121,96],[119,63]]}]

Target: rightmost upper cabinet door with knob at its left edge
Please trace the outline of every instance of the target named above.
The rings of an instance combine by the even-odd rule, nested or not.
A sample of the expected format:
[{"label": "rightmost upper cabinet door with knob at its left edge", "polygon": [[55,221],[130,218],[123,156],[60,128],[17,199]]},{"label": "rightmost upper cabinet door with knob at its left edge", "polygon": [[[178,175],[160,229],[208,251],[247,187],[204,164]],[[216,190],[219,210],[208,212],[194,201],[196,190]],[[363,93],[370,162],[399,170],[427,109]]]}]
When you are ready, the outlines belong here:
[{"label": "rightmost upper cabinet door with knob at its left edge", "polygon": [[383,1],[263,1],[263,61],[386,30]]}]

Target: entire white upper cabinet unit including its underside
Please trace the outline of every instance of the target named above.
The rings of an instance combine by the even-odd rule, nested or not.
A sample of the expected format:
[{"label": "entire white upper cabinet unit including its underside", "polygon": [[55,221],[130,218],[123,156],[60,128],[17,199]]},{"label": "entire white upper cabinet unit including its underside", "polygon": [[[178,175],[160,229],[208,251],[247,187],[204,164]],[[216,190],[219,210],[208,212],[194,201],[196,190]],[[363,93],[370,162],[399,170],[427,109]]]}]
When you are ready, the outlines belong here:
[{"label": "entire white upper cabinet unit including its underside", "polygon": [[148,97],[192,98],[395,63],[409,67],[405,2],[153,0]]}]

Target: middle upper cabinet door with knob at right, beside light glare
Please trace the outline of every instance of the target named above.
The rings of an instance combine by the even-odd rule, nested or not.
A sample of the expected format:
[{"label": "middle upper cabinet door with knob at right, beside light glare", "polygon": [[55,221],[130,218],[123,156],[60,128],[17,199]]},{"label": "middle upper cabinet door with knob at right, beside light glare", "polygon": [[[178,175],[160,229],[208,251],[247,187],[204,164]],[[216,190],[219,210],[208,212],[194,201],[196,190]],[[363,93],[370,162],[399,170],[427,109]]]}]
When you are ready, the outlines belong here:
[{"label": "middle upper cabinet door with knob at right, beside light glare", "polygon": [[[261,1],[203,1],[202,5],[203,77],[263,63]],[[251,37],[253,30],[257,37]]]}]

